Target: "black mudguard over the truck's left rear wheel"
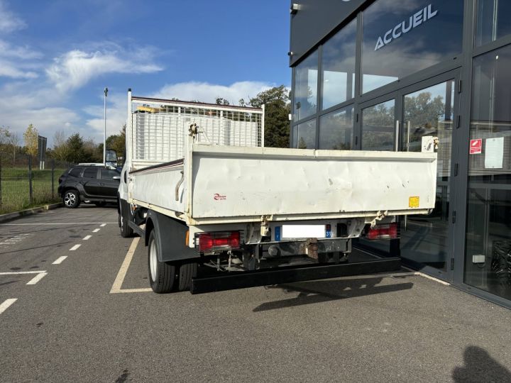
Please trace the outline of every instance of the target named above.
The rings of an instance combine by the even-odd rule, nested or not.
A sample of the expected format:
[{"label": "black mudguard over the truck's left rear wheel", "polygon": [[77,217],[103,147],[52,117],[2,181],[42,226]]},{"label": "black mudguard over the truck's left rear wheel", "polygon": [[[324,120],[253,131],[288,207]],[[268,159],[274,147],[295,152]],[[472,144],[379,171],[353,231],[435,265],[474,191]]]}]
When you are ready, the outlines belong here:
[{"label": "black mudguard over the truck's left rear wheel", "polygon": [[148,210],[145,223],[145,245],[148,245],[148,238],[151,230],[158,232],[158,245],[160,262],[175,260],[189,260],[200,257],[197,249],[189,248],[185,243],[188,226],[181,221],[164,216],[153,210]]}]

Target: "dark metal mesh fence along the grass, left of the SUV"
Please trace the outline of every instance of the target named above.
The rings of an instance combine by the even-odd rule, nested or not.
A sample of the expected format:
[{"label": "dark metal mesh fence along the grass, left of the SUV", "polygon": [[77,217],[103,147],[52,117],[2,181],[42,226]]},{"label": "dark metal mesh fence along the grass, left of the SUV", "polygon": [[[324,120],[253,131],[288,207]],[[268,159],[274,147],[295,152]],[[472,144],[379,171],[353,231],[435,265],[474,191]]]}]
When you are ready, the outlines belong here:
[{"label": "dark metal mesh fence along the grass, left of the SUV", "polygon": [[60,201],[58,179],[69,166],[48,160],[45,169],[40,169],[38,158],[31,155],[18,155],[14,160],[0,156],[0,213]]}]

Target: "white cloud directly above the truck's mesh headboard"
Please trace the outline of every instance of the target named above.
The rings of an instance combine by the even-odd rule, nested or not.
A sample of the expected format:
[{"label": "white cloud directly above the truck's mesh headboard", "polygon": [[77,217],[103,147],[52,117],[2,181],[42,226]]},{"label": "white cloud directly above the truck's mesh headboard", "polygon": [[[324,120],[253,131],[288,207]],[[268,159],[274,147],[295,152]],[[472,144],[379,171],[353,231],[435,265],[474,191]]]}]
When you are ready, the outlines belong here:
[{"label": "white cloud directly above the truck's mesh headboard", "polygon": [[[218,85],[208,82],[180,82],[177,84],[167,84],[157,91],[151,97],[161,99],[180,99],[183,101],[200,101],[213,103],[216,97],[223,97],[233,105],[238,105],[239,99],[248,101],[255,97],[261,91],[275,87],[275,84],[267,82],[243,81],[233,84]],[[135,92],[136,94],[136,92]]]}]

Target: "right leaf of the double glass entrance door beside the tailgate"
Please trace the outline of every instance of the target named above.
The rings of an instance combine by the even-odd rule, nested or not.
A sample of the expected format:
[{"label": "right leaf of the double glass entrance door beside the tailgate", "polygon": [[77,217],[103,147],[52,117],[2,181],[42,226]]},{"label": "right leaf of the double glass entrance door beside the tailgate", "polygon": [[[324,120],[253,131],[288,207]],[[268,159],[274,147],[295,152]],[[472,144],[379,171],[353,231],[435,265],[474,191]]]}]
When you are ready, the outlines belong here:
[{"label": "right leaf of the double glass entrance door beside the tailgate", "polygon": [[424,135],[439,138],[436,202],[429,215],[400,219],[400,253],[415,267],[451,280],[453,233],[451,206],[454,206],[454,174],[451,157],[458,109],[458,71],[402,89],[400,150],[420,152]]}]

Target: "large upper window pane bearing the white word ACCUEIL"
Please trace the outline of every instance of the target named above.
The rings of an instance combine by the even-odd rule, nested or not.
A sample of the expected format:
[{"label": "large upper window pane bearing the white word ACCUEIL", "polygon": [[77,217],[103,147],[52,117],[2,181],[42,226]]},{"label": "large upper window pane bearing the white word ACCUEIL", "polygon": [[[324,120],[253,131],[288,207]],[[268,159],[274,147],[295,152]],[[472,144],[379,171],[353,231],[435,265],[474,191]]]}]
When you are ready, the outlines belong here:
[{"label": "large upper window pane bearing the white word ACCUEIL", "polygon": [[462,35],[463,0],[376,1],[363,12],[363,93],[452,59]]}]

